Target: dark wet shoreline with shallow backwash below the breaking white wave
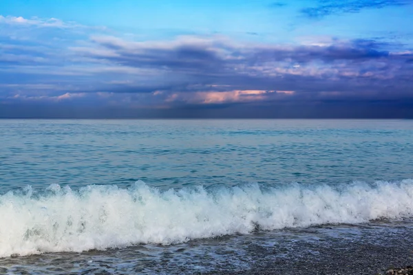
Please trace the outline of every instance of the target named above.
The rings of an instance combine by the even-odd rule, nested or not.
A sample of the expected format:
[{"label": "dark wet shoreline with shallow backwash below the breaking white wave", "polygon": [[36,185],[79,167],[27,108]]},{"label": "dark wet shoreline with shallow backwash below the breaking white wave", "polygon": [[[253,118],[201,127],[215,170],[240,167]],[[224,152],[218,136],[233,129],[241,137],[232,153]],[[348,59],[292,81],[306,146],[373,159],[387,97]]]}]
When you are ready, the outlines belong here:
[{"label": "dark wet shoreline with shallow backwash below the breaking white wave", "polygon": [[[324,225],[135,245],[82,253],[0,259],[0,272],[23,274],[412,274],[412,221]],[[399,272],[399,270],[396,270]]]}]

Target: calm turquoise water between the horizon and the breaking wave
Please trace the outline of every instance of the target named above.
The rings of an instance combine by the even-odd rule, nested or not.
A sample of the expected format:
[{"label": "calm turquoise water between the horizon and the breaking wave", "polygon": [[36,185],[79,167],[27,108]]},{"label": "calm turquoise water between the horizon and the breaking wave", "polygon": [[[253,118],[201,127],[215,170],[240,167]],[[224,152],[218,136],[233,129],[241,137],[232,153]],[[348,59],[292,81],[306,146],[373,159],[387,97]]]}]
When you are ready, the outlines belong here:
[{"label": "calm turquoise water between the horizon and the breaking wave", "polygon": [[0,192],[413,177],[410,120],[0,120]]}]

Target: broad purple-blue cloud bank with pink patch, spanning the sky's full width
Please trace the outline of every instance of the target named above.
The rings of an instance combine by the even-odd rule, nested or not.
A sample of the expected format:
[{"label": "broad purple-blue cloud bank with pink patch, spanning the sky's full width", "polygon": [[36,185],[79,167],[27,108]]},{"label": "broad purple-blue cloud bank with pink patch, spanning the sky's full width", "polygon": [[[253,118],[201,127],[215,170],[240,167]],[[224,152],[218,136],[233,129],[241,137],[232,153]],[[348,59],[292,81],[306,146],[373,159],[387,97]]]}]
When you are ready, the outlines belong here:
[{"label": "broad purple-blue cloud bank with pink patch, spanning the sky's full width", "polygon": [[[44,23],[4,19],[10,28],[25,24],[38,30]],[[56,30],[47,28],[47,34]],[[70,37],[72,29],[65,28],[64,34]],[[29,42],[0,37],[0,109],[28,104],[64,109],[72,104],[118,111],[174,109],[180,115],[189,115],[182,111],[187,109],[222,108],[243,115],[244,107],[255,108],[249,112],[255,115],[260,108],[266,114],[357,102],[395,102],[396,108],[413,100],[412,49],[372,39],[323,36],[282,44],[226,36],[164,41],[95,33],[62,36]]]}]

